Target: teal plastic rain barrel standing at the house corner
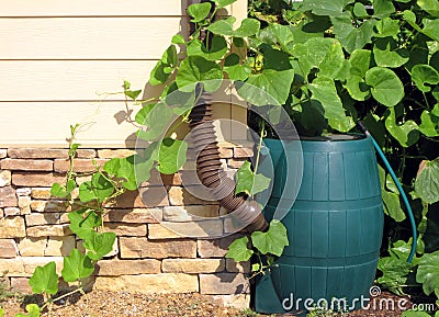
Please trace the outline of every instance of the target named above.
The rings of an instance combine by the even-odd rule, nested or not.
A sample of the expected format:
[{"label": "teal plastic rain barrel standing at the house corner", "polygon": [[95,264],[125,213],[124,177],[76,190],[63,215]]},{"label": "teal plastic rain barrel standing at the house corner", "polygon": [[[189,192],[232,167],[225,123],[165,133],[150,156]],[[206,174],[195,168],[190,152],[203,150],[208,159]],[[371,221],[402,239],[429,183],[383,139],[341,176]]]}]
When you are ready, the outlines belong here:
[{"label": "teal plastic rain barrel standing at the house corner", "polygon": [[[338,136],[301,140],[301,145],[299,194],[290,210],[281,211],[290,246],[271,273],[257,281],[256,310],[306,312],[325,305],[359,308],[370,297],[384,223],[372,140]],[[273,190],[264,208],[271,219],[277,206],[282,205],[285,170],[296,167],[286,166],[280,140],[269,139],[266,146],[274,166]],[[282,202],[285,200],[289,197],[283,196]]]}]

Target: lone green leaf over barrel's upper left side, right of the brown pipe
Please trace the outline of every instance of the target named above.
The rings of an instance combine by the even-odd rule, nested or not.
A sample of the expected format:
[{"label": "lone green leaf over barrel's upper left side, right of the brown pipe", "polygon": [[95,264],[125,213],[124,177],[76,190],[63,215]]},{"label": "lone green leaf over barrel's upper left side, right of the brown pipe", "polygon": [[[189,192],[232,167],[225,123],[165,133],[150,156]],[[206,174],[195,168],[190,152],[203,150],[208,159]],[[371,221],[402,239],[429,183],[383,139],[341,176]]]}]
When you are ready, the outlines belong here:
[{"label": "lone green leaf over barrel's upper left side, right of the brown pipe", "polygon": [[245,161],[236,172],[236,190],[235,193],[246,193],[255,195],[263,192],[270,185],[270,179],[260,173],[251,171],[250,162]]}]

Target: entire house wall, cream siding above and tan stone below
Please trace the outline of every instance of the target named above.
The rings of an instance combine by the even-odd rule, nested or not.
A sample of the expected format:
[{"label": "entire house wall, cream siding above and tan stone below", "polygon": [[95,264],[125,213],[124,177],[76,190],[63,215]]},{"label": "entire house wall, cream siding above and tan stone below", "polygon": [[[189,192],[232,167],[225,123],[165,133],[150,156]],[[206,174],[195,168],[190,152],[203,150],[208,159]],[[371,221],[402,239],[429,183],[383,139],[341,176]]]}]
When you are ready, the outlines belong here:
[{"label": "entire house wall, cream siding above and tan stone below", "polygon": [[[157,3],[160,5],[157,5]],[[246,0],[229,13],[245,16]],[[126,111],[123,80],[150,90],[147,78],[173,34],[187,34],[187,1],[15,0],[0,10],[0,276],[30,292],[36,265],[56,261],[81,241],[68,228],[64,202],[50,196],[53,182],[68,169],[70,124],[85,124],[76,169],[88,172],[134,148],[135,128],[120,118]],[[137,107],[128,104],[128,107]],[[246,110],[224,104],[216,117],[246,122]],[[245,138],[245,129],[234,129]],[[218,135],[227,139],[232,128]],[[131,136],[131,137],[130,137]],[[224,166],[233,173],[249,151],[222,143]],[[85,181],[87,177],[79,178]],[[162,180],[164,185],[155,181]],[[109,206],[105,227],[117,235],[114,250],[99,262],[91,287],[151,293],[199,292],[226,305],[247,307],[249,264],[225,259],[236,234],[217,218],[219,206],[188,193],[181,174],[156,173],[142,190]],[[148,197],[148,199],[145,199]],[[211,215],[196,222],[191,214]],[[199,238],[169,230],[190,228]],[[204,236],[203,236],[204,235]]]}]

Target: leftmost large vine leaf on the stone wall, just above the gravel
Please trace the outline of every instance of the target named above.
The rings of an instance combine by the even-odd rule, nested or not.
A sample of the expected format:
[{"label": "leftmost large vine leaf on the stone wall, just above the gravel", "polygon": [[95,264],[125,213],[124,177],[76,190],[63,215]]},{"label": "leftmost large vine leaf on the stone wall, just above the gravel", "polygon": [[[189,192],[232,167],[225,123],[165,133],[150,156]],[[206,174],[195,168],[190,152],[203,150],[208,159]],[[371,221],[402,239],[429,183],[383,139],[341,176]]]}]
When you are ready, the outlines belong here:
[{"label": "leftmost large vine leaf on the stone wall, just above the gravel", "polygon": [[48,262],[44,267],[36,267],[29,280],[32,292],[36,294],[56,294],[58,292],[58,274],[56,274],[56,263]]}]

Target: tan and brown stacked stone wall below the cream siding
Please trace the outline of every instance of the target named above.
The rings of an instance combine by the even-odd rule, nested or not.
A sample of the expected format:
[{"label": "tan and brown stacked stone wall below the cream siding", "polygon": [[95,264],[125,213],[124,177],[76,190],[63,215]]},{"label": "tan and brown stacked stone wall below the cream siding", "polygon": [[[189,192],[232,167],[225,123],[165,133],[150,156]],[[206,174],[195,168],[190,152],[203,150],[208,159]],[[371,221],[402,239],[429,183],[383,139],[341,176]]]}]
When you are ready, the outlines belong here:
[{"label": "tan and brown stacked stone wall below the cream siding", "polygon": [[[224,165],[233,171],[249,150],[224,144]],[[92,171],[92,160],[104,163],[125,157],[126,149],[80,149],[76,171]],[[81,241],[68,228],[64,202],[50,197],[53,182],[63,182],[68,170],[67,149],[0,149],[0,276],[21,292],[30,292],[29,278],[35,267],[48,261],[60,272],[63,256]],[[165,186],[147,184],[143,195],[128,192],[110,208],[105,227],[117,238],[111,254],[99,261],[93,287],[149,293],[213,295],[225,305],[247,307],[249,286],[245,279],[249,263],[225,259],[228,245],[237,234],[221,239],[192,239],[165,228],[161,222],[194,233],[230,231],[233,225],[212,219],[193,222],[191,215],[215,216],[219,206],[190,195],[180,174],[160,176]],[[86,177],[87,179],[87,177]],[[85,179],[82,179],[83,181]],[[78,179],[80,182],[81,179]],[[153,216],[154,215],[154,216]]]}]

